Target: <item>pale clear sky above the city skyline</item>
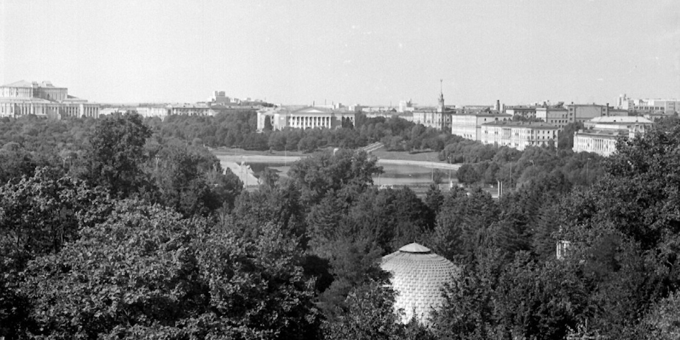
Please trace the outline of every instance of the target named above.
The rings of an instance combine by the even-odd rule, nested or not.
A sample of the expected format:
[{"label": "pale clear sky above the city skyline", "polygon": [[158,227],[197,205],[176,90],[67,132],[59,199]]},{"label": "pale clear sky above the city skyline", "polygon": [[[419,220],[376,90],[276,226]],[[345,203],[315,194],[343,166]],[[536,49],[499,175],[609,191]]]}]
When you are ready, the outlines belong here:
[{"label": "pale clear sky above the city skyline", "polygon": [[0,83],[100,103],[680,97],[678,0],[0,0]]}]

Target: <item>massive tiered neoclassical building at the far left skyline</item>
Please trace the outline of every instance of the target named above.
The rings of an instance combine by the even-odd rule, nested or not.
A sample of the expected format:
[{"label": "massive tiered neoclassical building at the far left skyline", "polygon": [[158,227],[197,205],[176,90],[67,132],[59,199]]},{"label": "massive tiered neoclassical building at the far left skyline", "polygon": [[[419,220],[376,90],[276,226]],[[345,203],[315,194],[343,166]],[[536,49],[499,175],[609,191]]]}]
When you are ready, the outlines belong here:
[{"label": "massive tiered neoclassical building at the far left skyline", "polygon": [[99,104],[68,94],[68,89],[51,82],[20,80],[0,86],[0,117],[33,114],[48,118],[99,116]]}]

